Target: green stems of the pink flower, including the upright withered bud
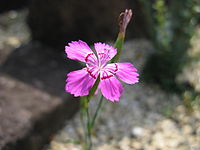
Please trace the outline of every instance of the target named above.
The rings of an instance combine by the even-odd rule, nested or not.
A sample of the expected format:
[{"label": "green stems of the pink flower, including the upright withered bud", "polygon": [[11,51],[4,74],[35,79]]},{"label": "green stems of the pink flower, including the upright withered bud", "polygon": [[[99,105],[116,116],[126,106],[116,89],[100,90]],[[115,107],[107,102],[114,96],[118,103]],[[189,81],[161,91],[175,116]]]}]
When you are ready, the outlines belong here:
[{"label": "green stems of the pink flower, including the upright withered bud", "polygon": [[[132,17],[132,11],[127,10],[127,9],[125,10],[125,12],[122,13],[122,15],[120,15],[120,20],[119,20],[120,31],[119,31],[116,43],[114,45],[114,47],[117,49],[117,54],[111,60],[112,63],[118,62],[118,60],[119,60],[119,56],[121,54],[122,46],[123,46],[123,43],[124,43],[126,27],[129,24],[131,17]],[[81,113],[82,118],[81,119],[82,119],[82,122],[84,121],[84,117],[86,117],[86,120],[87,120],[87,125],[86,125],[86,127],[84,127],[84,129],[87,128],[87,130],[85,132],[85,139],[86,139],[85,140],[85,144],[86,144],[85,150],[91,150],[92,149],[91,131],[94,127],[96,118],[98,116],[99,110],[100,110],[102,103],[103,103],[103,96],[101,96],[100,102],[97,106],[97,109],[96,109],[95,114],[94,114],[92,121],[91,121],[88,105],[89,105],[90,99],[95,94],[95,91],[97,90],[99,83],[100,83],[100,75],[98,76],[93,87],[91,88],[89,95],[81,97],[81,110],[82,110],[82,113]],[[83,122],[83,124],[84,124],[84,122]]]}]

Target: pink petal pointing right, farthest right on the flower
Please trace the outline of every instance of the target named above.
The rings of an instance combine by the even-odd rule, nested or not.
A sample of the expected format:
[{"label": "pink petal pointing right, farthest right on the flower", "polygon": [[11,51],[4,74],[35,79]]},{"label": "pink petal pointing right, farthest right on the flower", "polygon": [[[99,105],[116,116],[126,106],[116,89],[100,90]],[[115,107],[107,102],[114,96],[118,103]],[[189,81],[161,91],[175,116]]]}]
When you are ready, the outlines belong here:
[{"label": "pink petal pointing right, farthest right on the flower", "polygon": [[139,82],[137,69],[131,63],[108,64],[105,69],[115,74],[125,83],[134,84]]}]

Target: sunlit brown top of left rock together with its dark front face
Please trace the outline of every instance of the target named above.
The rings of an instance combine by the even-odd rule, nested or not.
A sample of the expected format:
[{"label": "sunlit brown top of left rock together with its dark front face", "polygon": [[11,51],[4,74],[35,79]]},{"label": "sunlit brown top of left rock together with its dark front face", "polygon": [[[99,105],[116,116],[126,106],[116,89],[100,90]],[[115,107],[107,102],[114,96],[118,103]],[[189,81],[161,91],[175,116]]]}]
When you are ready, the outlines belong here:
[{"label": "sunlit brown top of left rock together with its dark front face", "polygon": [[62,99],[0,75],[0,149],[38,150],[78,110],[78,101]]}]

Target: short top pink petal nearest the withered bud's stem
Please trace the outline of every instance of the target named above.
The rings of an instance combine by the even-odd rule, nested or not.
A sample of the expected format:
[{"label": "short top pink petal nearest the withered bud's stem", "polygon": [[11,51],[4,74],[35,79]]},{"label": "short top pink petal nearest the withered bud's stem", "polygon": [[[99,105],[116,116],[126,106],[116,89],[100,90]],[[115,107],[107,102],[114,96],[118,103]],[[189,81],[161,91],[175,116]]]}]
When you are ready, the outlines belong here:
[{"label": "short top pink petal nearest the withered bud's stem", "polygon": [[105,43],[95,43],[94,47],[102,65],[106,64],[117,54],[117,50],[115,48]]}]

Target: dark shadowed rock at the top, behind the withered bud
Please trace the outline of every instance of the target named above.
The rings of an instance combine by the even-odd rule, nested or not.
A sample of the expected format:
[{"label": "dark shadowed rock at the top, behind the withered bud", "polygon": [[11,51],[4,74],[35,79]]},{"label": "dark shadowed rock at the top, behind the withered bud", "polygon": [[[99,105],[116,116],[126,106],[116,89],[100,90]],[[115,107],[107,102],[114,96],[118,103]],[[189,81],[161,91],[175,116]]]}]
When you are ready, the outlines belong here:
[{"label": "dark shadowed rock at the top, behind the withered bud", "polygon": [[137,0],[32,0],[28,24],[33,39],[50,45],[78,39],[110,41],[116,38],[118,15],[125,8],[132,8],[134,14],[129,35],[142,35],[144,22]]}]

